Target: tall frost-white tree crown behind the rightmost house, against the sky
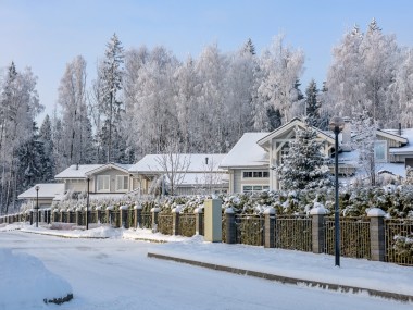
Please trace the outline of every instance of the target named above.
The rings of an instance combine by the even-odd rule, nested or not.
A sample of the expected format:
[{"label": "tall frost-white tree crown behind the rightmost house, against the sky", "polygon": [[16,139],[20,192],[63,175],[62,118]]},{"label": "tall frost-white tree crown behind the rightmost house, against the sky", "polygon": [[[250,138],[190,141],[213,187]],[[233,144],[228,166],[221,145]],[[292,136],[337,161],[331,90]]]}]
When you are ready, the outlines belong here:
[{"label": "tall frost-white tree crown behind the rightmost house, against the sky", "polygon": [[400,63],[400,48],[393,35],[385,35],[373,20],[365,34],[355,26],[334,49],[327,74],[330,111],[352,117],[364,110],[380,127],[396,126],[398,104],[391,87]]}]

